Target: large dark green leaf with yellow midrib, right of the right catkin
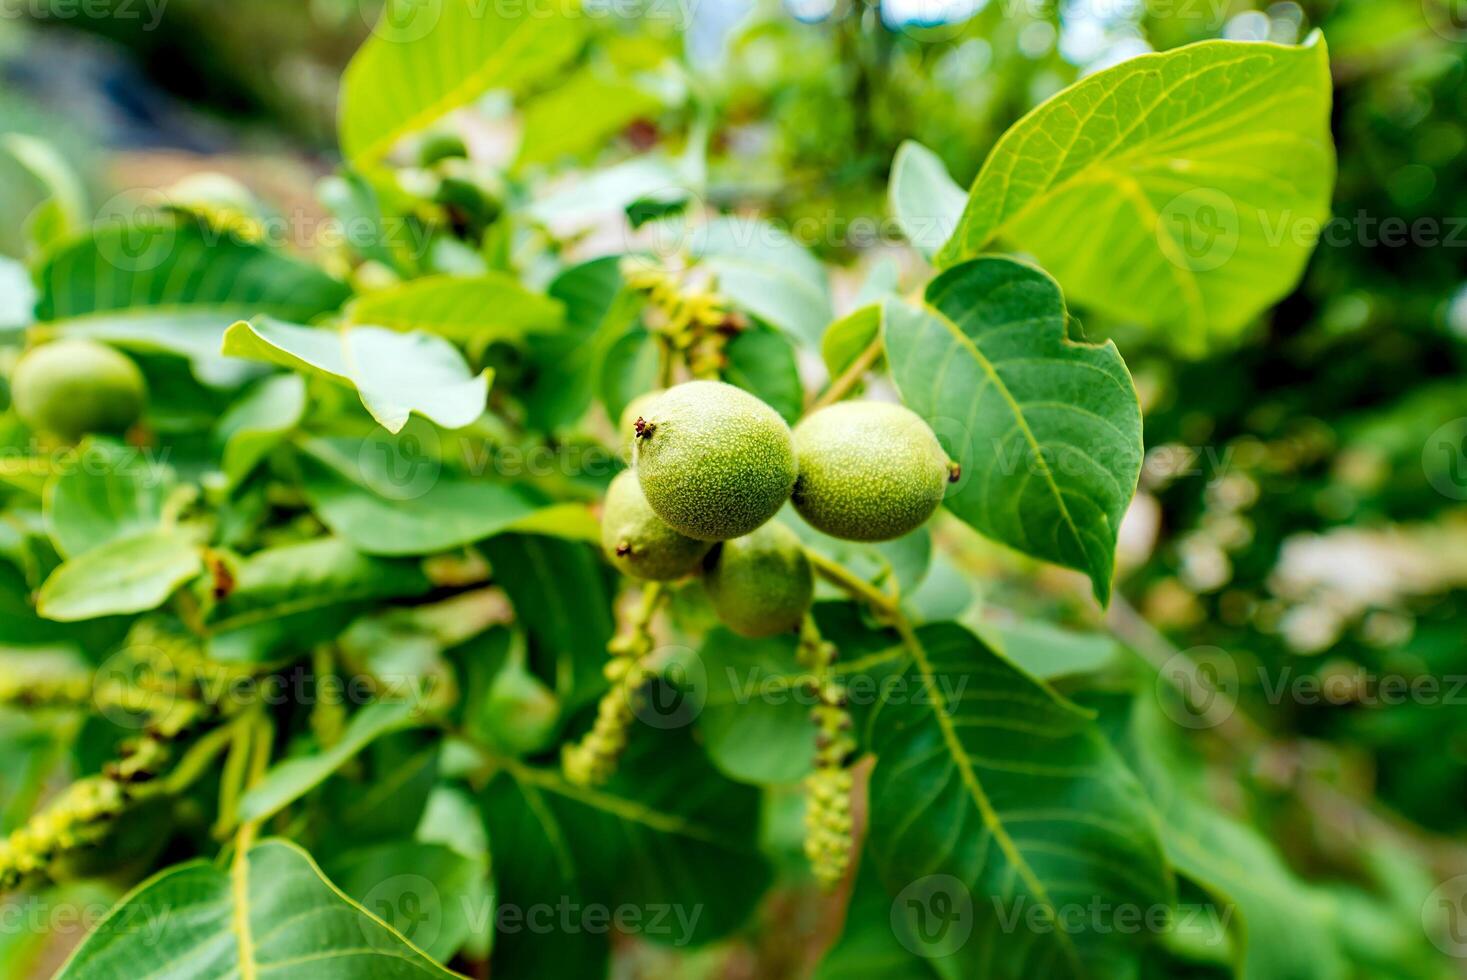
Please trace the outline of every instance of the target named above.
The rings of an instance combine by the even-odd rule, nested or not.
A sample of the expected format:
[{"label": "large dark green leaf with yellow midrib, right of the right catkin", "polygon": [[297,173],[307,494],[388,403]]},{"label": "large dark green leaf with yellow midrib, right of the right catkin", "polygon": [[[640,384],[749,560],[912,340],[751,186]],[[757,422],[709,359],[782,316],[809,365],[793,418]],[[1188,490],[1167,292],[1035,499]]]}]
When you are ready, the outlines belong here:
[{"label": "large dark green leaf with yellow midrib, right of the right catkin", "polygon": [[1091,910],[1175,904],[1135,776],[1089,713],[961,626],[910,647],[871,717],[870,845],[893,924],[945,973],[1122,976],[1146,939]]}]

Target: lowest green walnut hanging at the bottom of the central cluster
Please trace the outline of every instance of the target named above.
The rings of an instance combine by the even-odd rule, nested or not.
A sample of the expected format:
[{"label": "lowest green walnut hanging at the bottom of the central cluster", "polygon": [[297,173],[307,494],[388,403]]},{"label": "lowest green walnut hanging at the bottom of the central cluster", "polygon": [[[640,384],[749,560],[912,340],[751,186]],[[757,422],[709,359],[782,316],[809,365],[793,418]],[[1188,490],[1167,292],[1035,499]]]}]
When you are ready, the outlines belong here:
[{"label": "lowest green walnut hanging at the bottom of the central cluster", "polygon": [[719,619],[742,637],[773,637],[800,628],[816,593],[800,538],[775,522],[720,544],[703,585]]}]

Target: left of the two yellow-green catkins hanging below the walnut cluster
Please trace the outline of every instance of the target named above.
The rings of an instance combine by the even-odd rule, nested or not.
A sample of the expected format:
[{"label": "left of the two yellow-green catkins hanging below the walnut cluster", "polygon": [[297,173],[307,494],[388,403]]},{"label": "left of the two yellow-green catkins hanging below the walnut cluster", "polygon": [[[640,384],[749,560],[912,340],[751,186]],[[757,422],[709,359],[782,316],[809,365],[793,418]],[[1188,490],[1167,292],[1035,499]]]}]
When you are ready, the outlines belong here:
[{"label": "left of the two yellow-green catkins hanging below the walnut cluster", "polygon": [[651,678],[651,670],[643,660],[653,650],[651,619],[662,596],[660,585],[648,584],[643,590],[631,632],[613,637],[606,644],[606,651],[612,654],[604,668],[610,688],[596,706],[591,731],[579,742],[560,751],[560,769],[577,786],[599,786],[616,773],[616,763],[626,750],[626,738],[637,717],[637,698]]}]

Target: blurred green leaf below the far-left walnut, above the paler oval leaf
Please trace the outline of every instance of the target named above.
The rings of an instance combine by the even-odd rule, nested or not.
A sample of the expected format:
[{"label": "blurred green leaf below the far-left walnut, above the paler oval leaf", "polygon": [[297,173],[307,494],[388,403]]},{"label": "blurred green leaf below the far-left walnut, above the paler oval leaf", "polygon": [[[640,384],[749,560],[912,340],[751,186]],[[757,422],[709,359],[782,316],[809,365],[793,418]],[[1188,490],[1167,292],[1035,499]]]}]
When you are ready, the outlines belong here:
[{"label": "blurred green leaf below the far-left walnut, above the paler oval leaf", "polygon": [[62,557],[144,531],[163,521],[173,471],[136,449],[88,440],[76,462],[51,477],[43,496],[45,531]]}]

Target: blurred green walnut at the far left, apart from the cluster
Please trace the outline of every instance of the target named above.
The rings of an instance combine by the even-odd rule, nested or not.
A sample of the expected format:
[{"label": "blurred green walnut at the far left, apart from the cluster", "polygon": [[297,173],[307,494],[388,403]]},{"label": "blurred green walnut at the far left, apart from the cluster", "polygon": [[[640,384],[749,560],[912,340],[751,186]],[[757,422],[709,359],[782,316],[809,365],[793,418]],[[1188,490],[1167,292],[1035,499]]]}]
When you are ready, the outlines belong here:
[{"label": "blurred green walnut at the far left, apart from the cluster", "polygon": [[34,348],[10,377],[10,402],[21,420],[69,440],[126,430],[142,415],[147,398],[138,365],[91,340]]}]

